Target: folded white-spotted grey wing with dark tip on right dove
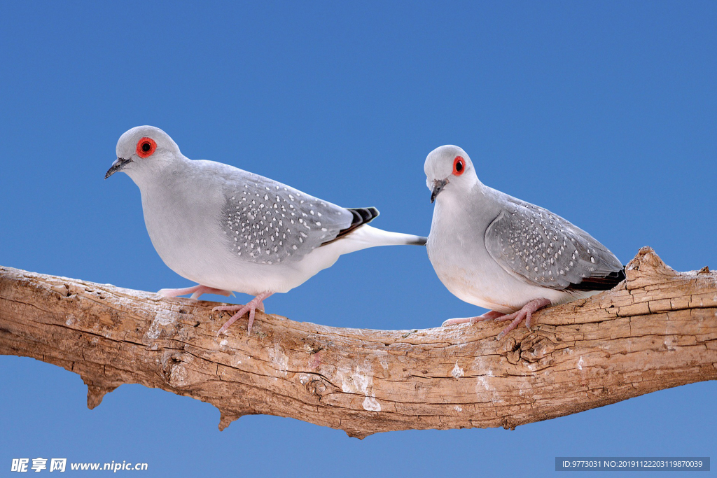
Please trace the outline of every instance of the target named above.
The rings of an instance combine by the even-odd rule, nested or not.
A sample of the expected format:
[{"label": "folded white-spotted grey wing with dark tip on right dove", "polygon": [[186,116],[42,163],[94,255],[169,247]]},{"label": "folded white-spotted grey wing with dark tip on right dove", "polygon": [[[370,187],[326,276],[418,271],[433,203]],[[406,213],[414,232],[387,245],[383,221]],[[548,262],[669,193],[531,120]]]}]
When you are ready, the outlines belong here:
[{"label": "folded white-spotted grey wing with dark tip on right dove", "polygon": [[503,269],[557,290],[608,290],[625,279],[617,257],[587,232],[547,209],[510,202],[485,231]]}]

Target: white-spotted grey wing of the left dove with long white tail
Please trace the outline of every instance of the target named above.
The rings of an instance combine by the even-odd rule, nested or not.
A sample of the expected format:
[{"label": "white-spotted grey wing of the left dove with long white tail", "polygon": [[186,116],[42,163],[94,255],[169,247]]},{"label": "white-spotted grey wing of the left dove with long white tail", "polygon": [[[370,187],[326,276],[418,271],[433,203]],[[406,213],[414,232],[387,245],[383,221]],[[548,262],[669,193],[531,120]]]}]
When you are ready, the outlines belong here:
[{"label": "white-spotted grey wing of the left dove with long white tail", "polygon": [[272,179],[241,170],[229,179],[222,230],[238,259],[295,262],[351,226],[347,209]]}]

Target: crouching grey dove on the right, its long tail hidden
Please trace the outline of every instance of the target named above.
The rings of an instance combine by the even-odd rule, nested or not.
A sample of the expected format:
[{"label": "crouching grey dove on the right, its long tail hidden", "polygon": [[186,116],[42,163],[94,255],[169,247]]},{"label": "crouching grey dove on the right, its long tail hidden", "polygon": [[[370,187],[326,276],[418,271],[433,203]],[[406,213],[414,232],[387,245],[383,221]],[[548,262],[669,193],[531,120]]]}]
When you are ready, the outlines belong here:
[{"label": "crouching grey dove on the right, its long tail hidden", "polygon": [[485,186],[461,148],[444,145],[424,163],[435,202],[426,244],[441,282],[460,300],[490,311],[443,322],[510,321],[498,339],[534,312],[625,279],[617,257],[590,234],[540,206]]}]

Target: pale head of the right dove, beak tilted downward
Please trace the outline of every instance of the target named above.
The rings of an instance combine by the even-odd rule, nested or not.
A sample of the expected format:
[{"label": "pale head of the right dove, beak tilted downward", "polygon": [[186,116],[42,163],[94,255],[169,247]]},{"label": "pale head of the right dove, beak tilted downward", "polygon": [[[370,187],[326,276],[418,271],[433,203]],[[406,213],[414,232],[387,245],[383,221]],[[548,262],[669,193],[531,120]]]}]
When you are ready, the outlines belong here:
[{"label": "pale head of the right dove, beak tilted downward", "polygon": [[431,190],[431,202],[444,194],[467,194],[478,181],[475,169],[464,150],[454,145],[435,148],[426,157],[423,166],[426,186]]}]

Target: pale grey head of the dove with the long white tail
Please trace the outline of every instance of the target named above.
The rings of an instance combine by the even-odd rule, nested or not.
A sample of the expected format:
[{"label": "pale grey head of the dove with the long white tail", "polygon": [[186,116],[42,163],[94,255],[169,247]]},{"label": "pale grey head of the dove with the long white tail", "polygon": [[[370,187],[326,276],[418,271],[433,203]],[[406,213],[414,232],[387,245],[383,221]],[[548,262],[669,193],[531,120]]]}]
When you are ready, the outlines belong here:
[{"label": "pale grey head of the dove with the long white tail", "polygon": [[117,142],[117,160],[105,174],[105,179],[117,171],[127,173],[135,183],[161,173],[181,158],[179,146],[159,128],[137,126],[126,131]]}]

